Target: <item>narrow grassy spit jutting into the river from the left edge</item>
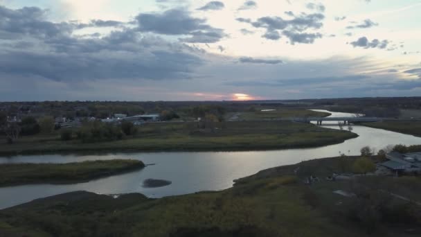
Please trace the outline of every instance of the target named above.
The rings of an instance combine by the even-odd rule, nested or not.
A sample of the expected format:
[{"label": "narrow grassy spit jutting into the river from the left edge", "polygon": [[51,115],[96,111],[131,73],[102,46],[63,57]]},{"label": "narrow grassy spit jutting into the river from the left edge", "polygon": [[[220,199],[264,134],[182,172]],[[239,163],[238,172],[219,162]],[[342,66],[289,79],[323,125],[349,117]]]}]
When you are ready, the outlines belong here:
[{"label": "narrow grassy spit jutting into the river from the left edge", "polygon": [[0,164],[0,186],[73,184],[145,167],[142,161],[114,159],[68,164]]}]

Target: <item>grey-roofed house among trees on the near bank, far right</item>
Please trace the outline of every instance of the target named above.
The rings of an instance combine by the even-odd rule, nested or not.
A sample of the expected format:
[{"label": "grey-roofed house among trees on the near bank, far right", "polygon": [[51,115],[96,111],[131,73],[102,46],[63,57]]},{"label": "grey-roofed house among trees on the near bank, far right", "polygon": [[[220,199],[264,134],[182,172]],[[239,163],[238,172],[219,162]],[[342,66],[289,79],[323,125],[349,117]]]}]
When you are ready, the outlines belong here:
[{"label": "grey-roofed house among trees on the near bank, far right", "polygon": [[384,166],[395,173],[421,172],[421,152],[401,154],[400,152],[390,152],[386,154],[388,161],[383,162]]}]

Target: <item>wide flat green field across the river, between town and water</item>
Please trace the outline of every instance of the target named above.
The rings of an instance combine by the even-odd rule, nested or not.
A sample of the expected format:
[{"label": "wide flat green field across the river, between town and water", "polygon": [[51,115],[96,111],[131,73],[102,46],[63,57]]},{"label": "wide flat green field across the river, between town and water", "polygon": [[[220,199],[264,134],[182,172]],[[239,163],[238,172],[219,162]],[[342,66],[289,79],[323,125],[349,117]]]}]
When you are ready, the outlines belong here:
[{"label": "wide flat green field across the river, between town and water", "polygon": [[[0,139],[0,155],[82,151],[199,151],[269,150],[325,146],[357,134],[289,121],[216,123],[214,132],[197,130],[197,123],[147,123],[135,137],[118,141],[82,143],[60,141],[60,134],[21,137],[10,145]],[[195,131],[195,132],[192,132]]]}]

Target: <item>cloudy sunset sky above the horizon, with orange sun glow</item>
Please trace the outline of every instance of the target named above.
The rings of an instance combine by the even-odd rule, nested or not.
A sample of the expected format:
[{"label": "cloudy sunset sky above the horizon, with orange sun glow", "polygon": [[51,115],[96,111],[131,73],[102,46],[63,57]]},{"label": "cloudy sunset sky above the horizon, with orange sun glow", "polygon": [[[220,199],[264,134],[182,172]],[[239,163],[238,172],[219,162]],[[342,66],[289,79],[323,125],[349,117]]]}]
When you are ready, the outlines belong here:
[{"label": "cloudy sunset sky above the horizon, with orange sun glow", "polygon": [[421,0],[0,0],[0,101],[421,95]]}]

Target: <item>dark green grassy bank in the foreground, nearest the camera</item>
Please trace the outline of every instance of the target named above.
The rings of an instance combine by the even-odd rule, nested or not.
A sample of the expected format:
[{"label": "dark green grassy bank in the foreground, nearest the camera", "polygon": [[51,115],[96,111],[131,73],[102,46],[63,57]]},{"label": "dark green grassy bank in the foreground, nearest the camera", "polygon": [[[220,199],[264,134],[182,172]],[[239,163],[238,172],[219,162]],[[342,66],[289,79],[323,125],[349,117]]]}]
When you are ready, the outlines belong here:
[{"label": "dark green grassy bank in the foreground, nearest the camera", "polygon": [[[122,195],[117,199],[86,192],[57,195],[0,211],[0,236],[388,237],[420,233],[416,232],[420,229],[420,219],[409,221],[404,213],[393,213],[390,216],[397,219],[391,224],[391,220],[379,212],[386,206],[377,207],[379,202],[371,200],[370,195],[361,195],[364,198],[360,199],[332,193],[337,189],[352,190],[354,181],[328,182],[319,176],[321,182],[311,186],[303,184],[307,173],[339,172],[339,159],[305,161],[263,170],[219,192],[161,199],[148,199],[141,194]],[[355,157],[346,159],[353,161]],[[301,171],[296,174],[294,170],[298,167]],[[304,170],[307,171],[302,172]],[[378,183],[380,181],[367,182],[367,185],[377,182],[378,186],[374,187],[383,188],[380,184],[386,182]],[[404,180],[411,184],[408,187],[400,185],[408,191],[420,185],[420,181],[414,178]],[[375,188],[370,186],[369,189]],[[360,200],[368,201],[361,204]],[[401,203],[391,201],[393,207],[401,207]],[[419,214],[419,208],[411,203],[402,205],[410,205],[411,213]],[[352,216],[355,210],[363,215],[361,220]],[[373,212],[382,214],[370,216]],[[415,231],[415,235],[407,234],[407,229],[411,229],[411,233]]]}]

